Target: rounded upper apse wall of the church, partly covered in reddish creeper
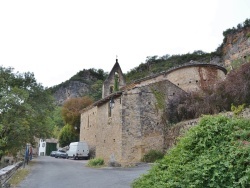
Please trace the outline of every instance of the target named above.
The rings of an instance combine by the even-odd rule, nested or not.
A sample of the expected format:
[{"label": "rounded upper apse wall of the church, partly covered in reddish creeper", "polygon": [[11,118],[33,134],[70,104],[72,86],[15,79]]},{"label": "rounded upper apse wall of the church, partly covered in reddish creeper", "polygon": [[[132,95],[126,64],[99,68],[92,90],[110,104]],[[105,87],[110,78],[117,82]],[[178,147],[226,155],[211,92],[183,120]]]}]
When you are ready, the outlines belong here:
[{"label": "rounded upper apse wall of the church, partly covered in reddish creeper", "polygon": [[193,61],[181,67],[175,67],[164,73],[144,78],[136,82],[137,87],[169,80],[186,92],[203,90],[209,85],[214,85],[223,80],[226,69],[217,64],[199,63]]}]

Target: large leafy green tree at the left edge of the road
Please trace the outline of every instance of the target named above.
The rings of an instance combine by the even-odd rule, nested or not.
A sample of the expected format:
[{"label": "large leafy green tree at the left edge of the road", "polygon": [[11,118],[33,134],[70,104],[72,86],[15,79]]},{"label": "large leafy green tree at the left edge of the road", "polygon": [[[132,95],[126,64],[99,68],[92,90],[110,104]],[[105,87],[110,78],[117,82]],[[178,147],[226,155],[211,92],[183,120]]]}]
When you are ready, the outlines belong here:
[{"label": "large leafy green tree at the left edge of the road", "polygon": [[0,88],[0,156],[15,154],[26,143],[34,145],[35,137],[51,136],[53,98],[32,73],[0,67]]}]

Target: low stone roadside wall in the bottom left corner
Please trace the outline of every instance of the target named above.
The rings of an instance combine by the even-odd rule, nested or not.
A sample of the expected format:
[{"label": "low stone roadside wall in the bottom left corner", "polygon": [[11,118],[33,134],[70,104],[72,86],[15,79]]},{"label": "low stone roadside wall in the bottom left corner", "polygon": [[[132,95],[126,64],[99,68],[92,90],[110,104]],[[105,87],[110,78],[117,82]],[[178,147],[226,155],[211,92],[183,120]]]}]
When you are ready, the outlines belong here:
[{"label": "low stone roadside wall in the bottom left corner", "polygon": [[13,165],[9,165],[5,168],[2,168],[0,170],[0,188],[8,187],[7,182],[11,178],[11,176],[16,172],[16,170],[22,166],[23,162],[20,161],[18,163],[15,163]]}]

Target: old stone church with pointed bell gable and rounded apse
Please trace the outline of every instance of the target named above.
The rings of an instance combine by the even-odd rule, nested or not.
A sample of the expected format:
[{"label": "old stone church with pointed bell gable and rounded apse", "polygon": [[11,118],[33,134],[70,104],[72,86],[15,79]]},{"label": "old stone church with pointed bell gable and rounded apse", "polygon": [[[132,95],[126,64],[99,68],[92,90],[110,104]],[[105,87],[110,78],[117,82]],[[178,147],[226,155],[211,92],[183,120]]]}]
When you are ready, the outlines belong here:
[{"label": "old stone church with pointed bell gable and rounded apse", "polygon": [[128,166],[150,150],[164,150],[164,125],[157,93],[168,103],[174,95],[202,90],[225,78],[217,64],[190,62],[126,84],[116,59],[102,89],[102,99],[81,113],[80,141],[106,164]]}]

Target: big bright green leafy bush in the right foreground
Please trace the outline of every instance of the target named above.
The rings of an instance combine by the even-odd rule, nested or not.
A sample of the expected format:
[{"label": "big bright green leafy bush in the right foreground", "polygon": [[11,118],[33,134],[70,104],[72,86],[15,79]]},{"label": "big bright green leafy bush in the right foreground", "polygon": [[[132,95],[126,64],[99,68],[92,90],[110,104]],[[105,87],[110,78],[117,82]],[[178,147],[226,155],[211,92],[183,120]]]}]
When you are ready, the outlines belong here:
[{"label": "big bright green leafy bush in the right foreground", "polygon": [[249,161],[250,121],[206,116],[133,187],[250,187]]}]

